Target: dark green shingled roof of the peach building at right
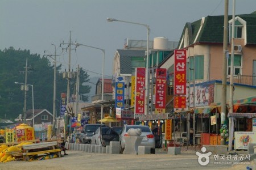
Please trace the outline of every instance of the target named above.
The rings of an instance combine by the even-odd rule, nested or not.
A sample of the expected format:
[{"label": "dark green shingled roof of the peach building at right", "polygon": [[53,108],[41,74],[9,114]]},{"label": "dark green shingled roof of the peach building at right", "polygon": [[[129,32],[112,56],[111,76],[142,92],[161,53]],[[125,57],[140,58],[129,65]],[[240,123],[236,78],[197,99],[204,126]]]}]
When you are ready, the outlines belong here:
[{"label": "dark green shingled roof of the peach building at right", "polygon": [[[236,16],[239,16],[241,19],[246,21],[247,44],[256,44],[256,12]],[[229,15],[228,20],[231,19],[232,15]],[[203,25],[200,29],[202,22]],[[203,43],[222,44],[224,33],[223,25],[224,15],[207,16],[203,19],[196,20],[195,22],[186,23],[181,37],[184,35],[185,30],[188,28],[189,45]],[[179,41],[179,46],[180,43],[181,39]]]}]

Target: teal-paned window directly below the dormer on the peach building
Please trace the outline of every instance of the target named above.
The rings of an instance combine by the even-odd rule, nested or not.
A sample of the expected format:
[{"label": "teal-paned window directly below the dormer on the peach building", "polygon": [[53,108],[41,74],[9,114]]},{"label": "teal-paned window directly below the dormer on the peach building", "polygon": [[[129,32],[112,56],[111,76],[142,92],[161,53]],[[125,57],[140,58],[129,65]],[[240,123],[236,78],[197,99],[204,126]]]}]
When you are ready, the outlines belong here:
[{"label": "teal-paned window directly below the dormer on the peach building", "polygon": [[[231,70],[231,54],[229,54],[229,61],[228,61],[228,75],[230,75]],[[240,54],[234,54],[234,75],[241,75],[242,74],[242,56]]]}]

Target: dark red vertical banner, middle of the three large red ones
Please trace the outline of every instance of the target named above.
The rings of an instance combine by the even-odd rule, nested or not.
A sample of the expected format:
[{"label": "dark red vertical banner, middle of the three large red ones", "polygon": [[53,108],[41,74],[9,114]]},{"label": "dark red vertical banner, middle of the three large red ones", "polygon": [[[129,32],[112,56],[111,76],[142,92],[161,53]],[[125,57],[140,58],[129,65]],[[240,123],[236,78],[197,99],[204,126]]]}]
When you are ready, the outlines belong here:
[{"label": "dark red vertical banner, middle of the three large red ones", "polygon": [[166,112],[166,69],[156,69],[155,113]]}]

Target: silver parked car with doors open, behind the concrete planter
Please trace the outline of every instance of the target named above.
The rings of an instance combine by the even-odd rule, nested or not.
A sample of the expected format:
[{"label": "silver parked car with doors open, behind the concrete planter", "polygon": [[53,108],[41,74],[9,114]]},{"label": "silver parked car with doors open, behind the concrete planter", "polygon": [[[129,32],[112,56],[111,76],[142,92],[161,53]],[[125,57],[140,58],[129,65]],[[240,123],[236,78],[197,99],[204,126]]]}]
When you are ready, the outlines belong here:
[{"label": "silver parked car with doors open, behind the concrete planter", "polygon": [[128,135],[127,131],[131,128],[134,128],[134,129],[138,128],[138,129],[142,130],[141,137],[143,137],[143,139],[141,141],[141,146],[150,146],[151,154],[155,154],[155,144],[156,144],[155,139],[157,139],[158,140],[157,143],[159,143],[160,138],[158,138],[158,137],[155,138],[155,135],[152,133],[151,129],[145,125],[125,125],[125,126],[123,126],[121,134],[119,135],[121,153],[123,152],[123,150],[125,150],[124,137]]}]

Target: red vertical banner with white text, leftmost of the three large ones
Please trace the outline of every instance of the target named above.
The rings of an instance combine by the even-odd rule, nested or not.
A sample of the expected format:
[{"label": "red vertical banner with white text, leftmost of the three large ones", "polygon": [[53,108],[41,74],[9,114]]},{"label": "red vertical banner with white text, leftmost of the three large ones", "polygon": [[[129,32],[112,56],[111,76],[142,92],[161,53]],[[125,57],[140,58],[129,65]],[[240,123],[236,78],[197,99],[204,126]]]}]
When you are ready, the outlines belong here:
[{"label": "red vertical banner with white text, leftmost of the three large ones", "polygon": [[135,115],[144,114],[144,99],[145,99],[145,75],[146,69],[137,67],[136,68],[136,85],[135,85]]}]

